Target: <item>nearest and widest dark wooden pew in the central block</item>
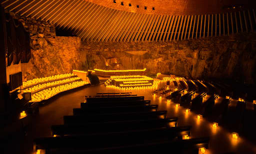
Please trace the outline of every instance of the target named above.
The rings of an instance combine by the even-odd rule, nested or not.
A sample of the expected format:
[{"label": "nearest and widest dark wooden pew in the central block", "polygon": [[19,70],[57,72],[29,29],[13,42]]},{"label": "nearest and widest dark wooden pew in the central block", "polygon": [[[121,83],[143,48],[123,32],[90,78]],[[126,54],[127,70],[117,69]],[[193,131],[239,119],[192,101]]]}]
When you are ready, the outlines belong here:
[{"label": "nearest and widest dark wooden pew in the central block", "polygon": [[198,154],[199,148],[208,148],[209,138],[195,138],[189,140],[158,141],[152,143],[141,143],[127,146],[116,146],[109,148],[90,148],[90,149],[57,149],[48,151],[47,154],[98,154],[98,153],[163,153],[170,151],[173,154]]}]

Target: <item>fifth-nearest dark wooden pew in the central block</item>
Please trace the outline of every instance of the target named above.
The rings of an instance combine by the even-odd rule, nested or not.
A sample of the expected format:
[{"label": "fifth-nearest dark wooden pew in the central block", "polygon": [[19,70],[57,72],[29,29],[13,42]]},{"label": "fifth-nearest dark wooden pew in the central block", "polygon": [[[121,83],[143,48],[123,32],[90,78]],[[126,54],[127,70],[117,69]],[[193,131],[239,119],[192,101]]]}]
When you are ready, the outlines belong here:
[{"label": "fifth-nearest dark wooden pew in the central block", "polygon": [[143,101],[108,101],[108,102],[87,102],[87,103],[81,103],[80,106],[81,108],[84,107],[109,107],[109,106],[145,106],[149,105],[150,100],[143,100]]}]

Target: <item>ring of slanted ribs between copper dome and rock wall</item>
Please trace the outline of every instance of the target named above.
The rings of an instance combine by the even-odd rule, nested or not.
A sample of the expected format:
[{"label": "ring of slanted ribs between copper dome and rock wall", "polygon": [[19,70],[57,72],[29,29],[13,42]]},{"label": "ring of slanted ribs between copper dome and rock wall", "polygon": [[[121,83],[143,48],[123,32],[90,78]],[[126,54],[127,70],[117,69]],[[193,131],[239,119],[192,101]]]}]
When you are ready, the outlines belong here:
[{"label": "ring of slanted ribs between copper dome and rock wall", "polygon": [[256,29],[254,9],[164,15],[118,10],[85,0],[4,0],[1,5],[16,14],[69,28],[83,40],[93,41],[170,41],[223,36]]}]

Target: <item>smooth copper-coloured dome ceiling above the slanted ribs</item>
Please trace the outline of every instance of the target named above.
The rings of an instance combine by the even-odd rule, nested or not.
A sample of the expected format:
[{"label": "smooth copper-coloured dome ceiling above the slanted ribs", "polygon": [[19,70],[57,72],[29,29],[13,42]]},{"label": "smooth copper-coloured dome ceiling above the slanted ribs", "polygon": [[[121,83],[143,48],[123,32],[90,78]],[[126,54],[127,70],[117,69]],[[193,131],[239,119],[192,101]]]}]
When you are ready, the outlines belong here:
[{"label": "smooth copper-coloured dome ceiling above the slanted ribs", "polygon": [[[211,14],[255,7],[256,0],[86,0],[118,10],[170,15]],[[123,5],[121,5],[121,2]],[[131,6],[129,6],[129,4]],[[137,5],[139,6],[137,8]],[[144,9],[146,6],[146,9]],[[232,8],[235,6],[235,8]],[[152,9],[154,7],[154,10]],[[229,9],[228,9],[229,7]]]}]

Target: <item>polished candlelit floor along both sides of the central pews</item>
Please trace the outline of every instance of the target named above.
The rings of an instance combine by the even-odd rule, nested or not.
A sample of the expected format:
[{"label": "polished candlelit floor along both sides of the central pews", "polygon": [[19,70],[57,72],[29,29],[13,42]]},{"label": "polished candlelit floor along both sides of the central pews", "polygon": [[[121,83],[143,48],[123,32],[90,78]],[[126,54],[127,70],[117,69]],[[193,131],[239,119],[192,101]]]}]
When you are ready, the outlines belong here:
[{"label": "polished candlelit floor along both sides of the central pews", "polygon": [[[8,151],[13,154],[32,154],[34,138],[51,136],[51,125],[63,124],[63,116],[72,115],[72,109],[80,107],[80,102],[84,101],[85,95],[93,96],[97,92],[116,92],[116,90],[98,85],[56,96],[40,107],[38,115],[30,117],[32,123],[27,128],[27,135],[17,137],[19,140],[16,138],[9,139],[5,148],[8,148]],[[238,140],[233,140],[231,132],[221,126],[213,129],[212,123],[203,118],[197,120],[194,113],[186,113],[181,106],[177,108],[175,103],[167,103],[166,99],[160,99],[158,95],[152,96],[151,91],[131,92],[138,96],[145,96],[145,100],[151,100],[151,104],[158,104],[158,110],[167,110],[168,117],[178,117],[178,125],[191,125],[191,138],[209,136],[210,142],[207,154],[256,154],[256,145],[248,140],[240,136]],[[219,98],[218,101],[221,99]]]}]

